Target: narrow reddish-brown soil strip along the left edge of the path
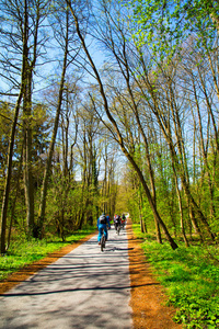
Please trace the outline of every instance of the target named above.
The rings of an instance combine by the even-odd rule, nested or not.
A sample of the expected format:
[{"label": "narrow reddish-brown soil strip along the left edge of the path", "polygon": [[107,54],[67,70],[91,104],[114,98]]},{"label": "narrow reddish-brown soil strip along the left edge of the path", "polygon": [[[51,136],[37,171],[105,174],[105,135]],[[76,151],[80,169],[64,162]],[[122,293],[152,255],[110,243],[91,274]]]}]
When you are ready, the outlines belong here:
[{"label": "narrow reddish-brown soil strip along the left edge of the path", "polygon": [[44,258],[39,261],[36,261],[36,262],[34,262],[30,265],[26,265],[26,266],[22,268],[21,270],[19,270],[18,272],[12,273],[5,280],[0,282],[0,295],[2,295],[3,293],[10,291],[15,285],[18,285],[21,282],[23,282],[24,280],[28,279],[31,275],[34,275],[39,270],[42,270],[42,269],[46,268],[47,265],[54,263],[60,257],[69,253],[71,250],[76,249],[81,243],[83,243],[83,242],[88,241],[89,239],[91,239],[94,235],[96,235],[96,232],[93,232],[93,234],[84,237],[83,239],[74,242],[73,245],[66,246],[66,247],[61,248],[58,251],[49,253],[46,258]]}]

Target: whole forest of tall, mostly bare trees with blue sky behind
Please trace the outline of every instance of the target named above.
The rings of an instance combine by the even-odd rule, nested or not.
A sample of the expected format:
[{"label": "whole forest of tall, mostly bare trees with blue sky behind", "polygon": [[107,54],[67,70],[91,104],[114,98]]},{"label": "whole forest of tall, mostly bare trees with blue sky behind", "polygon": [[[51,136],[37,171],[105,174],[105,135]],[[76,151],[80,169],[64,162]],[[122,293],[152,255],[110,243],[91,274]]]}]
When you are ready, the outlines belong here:
[{"label": "whole forest of tall, mostly bare trees with blue sky behind", "polygon": [[218,1],[0,1],[1,253],[127,212],[219,231]]}]

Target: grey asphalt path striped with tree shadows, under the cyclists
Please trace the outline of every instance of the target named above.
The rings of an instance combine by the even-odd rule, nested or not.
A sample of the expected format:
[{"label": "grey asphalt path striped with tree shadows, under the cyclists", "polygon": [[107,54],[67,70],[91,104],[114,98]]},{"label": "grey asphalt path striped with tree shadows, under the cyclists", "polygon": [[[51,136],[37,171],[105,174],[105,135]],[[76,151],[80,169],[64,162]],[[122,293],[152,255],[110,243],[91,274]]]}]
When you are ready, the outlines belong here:
[{"label": "grey asphalt path striped with tree shadows, under the cyclists", "polygon": [[126,231],[97,236],[0,297],[0,328],[131,328]]}]

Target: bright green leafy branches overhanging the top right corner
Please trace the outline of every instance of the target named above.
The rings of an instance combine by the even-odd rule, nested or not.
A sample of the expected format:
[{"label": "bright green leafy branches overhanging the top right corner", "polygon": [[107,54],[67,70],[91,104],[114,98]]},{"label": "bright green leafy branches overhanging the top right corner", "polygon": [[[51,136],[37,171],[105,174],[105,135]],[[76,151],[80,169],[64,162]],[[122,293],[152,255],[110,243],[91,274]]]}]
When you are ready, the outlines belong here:
[{"label": "bright green leafy branches overhanging the top right corner", "polygon": [[[123,2],[123,1],[122,1]],[[147,44],[157,59],[172,57],[191,33],[197,34],[197,46],[211,48],[217,34],[219,5],[214,0],[132,0],[131,20],[139,47]]]}]

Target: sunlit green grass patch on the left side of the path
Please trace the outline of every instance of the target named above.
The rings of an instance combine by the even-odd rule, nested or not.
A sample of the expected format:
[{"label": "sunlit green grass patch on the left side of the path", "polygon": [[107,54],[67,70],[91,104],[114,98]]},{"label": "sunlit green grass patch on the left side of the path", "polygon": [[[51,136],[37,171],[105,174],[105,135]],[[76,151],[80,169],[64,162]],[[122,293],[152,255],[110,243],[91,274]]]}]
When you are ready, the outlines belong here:
[{"label": "sunlit green grass patch on the left side of the path", "polygon": [[5,256],[0,257],[0,280],[7,279],[11,273],[16,272],[24,265],[45,258],[48,253],[60,250],[62,247],[77,242],[94,231],[94,227],[81,229],[66,238],[53,237],[50,239],[26,240],[25,237],[14,239]]}]

